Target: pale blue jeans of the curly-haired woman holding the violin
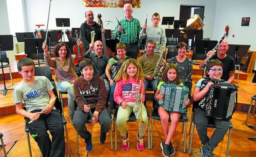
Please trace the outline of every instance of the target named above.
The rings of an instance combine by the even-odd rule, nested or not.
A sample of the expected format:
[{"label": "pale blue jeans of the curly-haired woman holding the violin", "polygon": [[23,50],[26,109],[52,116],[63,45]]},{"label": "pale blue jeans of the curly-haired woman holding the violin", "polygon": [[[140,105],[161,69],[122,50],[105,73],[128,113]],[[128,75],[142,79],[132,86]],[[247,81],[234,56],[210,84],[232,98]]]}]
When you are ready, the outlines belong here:
[{"label": "pale blue jeans of the curly-haired woman holding the violin", "polygon": [[73,84],[63,81],[57,84],[57,88],[61,92],[68,92],[68,105],[69,105],[69,115],[75,114],[75,95]]}]

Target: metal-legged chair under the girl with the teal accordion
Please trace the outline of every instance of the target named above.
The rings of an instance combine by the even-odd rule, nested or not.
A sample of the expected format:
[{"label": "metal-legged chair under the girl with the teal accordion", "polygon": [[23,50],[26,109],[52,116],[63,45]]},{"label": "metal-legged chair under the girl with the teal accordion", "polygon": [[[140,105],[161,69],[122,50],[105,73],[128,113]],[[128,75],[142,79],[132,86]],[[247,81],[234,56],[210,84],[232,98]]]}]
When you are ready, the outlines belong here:
[{"label": "metal-legged chair under the girl with the teal accordion", "polygon": [[[155,102],[155,103],[157,103],[157,102]],[[152,114],[151,114],[152,124],[151,124],[151,142],[150,142],[151,145],[150,145],[150,149],[152,149],[152,146],[153,146],[153,127],[154,127],[153,124],[154,124],[154,119],[158,120],[158,121],[161,121],[160,115],[158,114],[158,108],[156,107],[155,103],[153,103],[153,111],[152,111]],[[180,117],[180,120],[179,120],[179,122],[183,123],[181,133],[183,133],[183,131],[184,131],[184,123],[185,123],[184,150],[183,150],[184,153],[186,152],[187,121],[188,121],[187,112],[181,113],[181,117]],[[171,122],[170,117],[168,119],[168,122]]]}]

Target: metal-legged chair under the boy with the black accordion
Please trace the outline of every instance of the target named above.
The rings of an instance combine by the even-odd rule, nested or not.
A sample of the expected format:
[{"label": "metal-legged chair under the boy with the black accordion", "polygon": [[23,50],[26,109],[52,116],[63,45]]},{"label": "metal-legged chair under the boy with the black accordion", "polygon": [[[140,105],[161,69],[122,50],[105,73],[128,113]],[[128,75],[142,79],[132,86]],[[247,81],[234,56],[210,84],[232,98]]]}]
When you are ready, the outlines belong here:
[{"label": "metal-legged chair under the boy with the black accordion", "polygon": [[[193,142],[193,137],[194,137],[194,114],[193,114],[193,118],[192,118],[192,122],[193,122],[193,126],[192,126],[192,135],[191,135],[191,139],[190,139],[190,147],[189,147],[189,152],[188,154],[191,155],[191,149],[192,149],[192,142]],[[214,123],[214,121],[210,120],[207,124],[208,128],[216,128],[216,125]],[[230,138],[231,138],[231,129],[233,128],[232,123],[230,122],[229,125],[229,138],[228,138],[228,144],[227,144],[227,150],[226,150],[226,157],[228,157],[229,155],[229,144],[230,144]]]}]

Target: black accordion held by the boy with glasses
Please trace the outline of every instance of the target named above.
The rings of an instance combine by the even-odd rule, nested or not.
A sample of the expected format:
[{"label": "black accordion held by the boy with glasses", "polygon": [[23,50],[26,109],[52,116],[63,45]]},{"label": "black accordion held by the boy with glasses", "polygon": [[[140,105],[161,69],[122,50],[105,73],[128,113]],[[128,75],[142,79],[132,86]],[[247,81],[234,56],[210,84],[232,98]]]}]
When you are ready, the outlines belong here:
[{"label": "black accordion held by the boy with glasses", "polygon": [[237,104],[238,88],[229,82],[214,82],[203,80],[201,90],[208,82],[213,82],[209,91],[199,100],[198,107],[206,112],[208,117],[229,120],[232,118]]}]

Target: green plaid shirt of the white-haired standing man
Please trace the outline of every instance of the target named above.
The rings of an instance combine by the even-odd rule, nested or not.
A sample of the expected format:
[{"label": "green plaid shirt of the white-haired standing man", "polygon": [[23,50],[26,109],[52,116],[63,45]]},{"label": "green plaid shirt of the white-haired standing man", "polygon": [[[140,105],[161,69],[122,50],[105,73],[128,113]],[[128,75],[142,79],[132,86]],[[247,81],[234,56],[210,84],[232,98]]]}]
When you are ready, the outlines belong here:
[{"label": "green plaid shirt of the white-haired standing man", "polygon": [[118,31],[117,27],[114,30],[114,37],[117,37],[120,34],[120,42],[122,43],[134,43],[137,42],[138,46],[141,45],[141,41],[139,40],[139,32],[141,30],[139,20],[136,18],[132,18],[132,20],[128,21],[126,18],[120,20],[120,23],[126,32],[126,34],[122,33],[123,31]]}]

